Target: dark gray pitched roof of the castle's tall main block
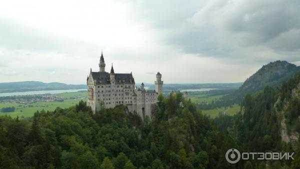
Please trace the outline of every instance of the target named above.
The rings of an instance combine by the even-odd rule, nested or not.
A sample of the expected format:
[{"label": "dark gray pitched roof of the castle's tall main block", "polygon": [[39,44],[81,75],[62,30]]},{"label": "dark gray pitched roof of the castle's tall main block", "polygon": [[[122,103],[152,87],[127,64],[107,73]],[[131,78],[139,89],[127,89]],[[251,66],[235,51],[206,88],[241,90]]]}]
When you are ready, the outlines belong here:
[{"label": "dark gray pitched roof of the castle's tall main block", "polygon": [[[91,76],[96,82],[98,83],[101,81],[101,83],[107,84],[110,83],[110,75],[108,72],[91,72]],[[130,82],[131,79],[131,82]],[[115,83],[133,83],[134,78],[131,73],[114,73],[114,80]]]}]

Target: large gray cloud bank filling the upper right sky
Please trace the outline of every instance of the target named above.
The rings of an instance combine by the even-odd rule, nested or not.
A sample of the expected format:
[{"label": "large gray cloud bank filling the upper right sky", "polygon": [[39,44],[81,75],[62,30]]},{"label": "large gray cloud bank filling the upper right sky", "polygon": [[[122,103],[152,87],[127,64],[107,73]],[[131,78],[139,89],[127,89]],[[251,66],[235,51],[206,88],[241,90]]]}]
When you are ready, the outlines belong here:
[{"label": "large gray cloud bank filling the upper right sky", "polygon": [[146,1],[141,6],[164,40],[187,53],[255,61],[267,49],[275,59],[300,59],[299,0]]}]

